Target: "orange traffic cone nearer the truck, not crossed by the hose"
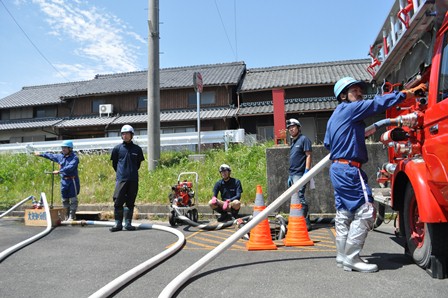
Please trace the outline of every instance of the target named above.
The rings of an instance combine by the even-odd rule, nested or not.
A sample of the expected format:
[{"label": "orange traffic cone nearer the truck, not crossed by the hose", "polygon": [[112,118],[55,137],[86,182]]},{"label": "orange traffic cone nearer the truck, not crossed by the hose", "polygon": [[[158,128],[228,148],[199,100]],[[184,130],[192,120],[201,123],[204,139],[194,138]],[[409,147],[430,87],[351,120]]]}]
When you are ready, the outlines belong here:
[{"label": "orange traffic cone nearer the truck, not crossed by the hose", "polygon": [[302,204],[299,201],[299,194],[295,193],[291,197],[289,208],[288,231],[283,239],[285,246],[313,246],[314,242],[308,235],[305,217],[303,216]]}]

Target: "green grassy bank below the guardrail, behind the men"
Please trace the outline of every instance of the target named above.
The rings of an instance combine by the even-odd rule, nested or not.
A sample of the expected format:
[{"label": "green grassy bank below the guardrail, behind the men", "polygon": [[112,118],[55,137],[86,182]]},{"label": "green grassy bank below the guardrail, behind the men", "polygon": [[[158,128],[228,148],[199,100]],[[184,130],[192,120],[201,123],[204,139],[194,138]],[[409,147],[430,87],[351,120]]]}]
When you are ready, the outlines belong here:
[{"label": "green grassy bank below the guardrail, behind the men", "polygon": [[[147,161],[142,163],[139,171],[140,185],[136,204],[166,204],[171,186],[177,183],[181,172],[197,172],[198,185],[195,185],[199,204],[207,204],[212,196],[212,189],[221,176],[218,168],[226,163],[232,168],[232,177],[241,180],[243,204],[252,204],[257,184],[266,192],[266,148],[273,142],[254,146],[232,144],[227,151],[209,149],[201,152],[206,155],[204,162],[190,161],[188,155],[194,152],[162,152],[157,168],[149,172]],[[109,153],[78,154],[79,175],[81,180],[80,204],[112,204],[115,186],[115,172]],[[146,156],[145,156],[146,157]],[[58,165],[54,165],[58,168]],[[52,192],[53,163],[47,159],[27,154],[0,155],[0,209],[6,210],[20,200],[34,195],[39,197],[45,192],[48,200]],[[188,177],[186,177],[188,178]],[[193,181],[193,177],[188,180]],[[54,177],[54,204],[59,205],[60,177]]]}]

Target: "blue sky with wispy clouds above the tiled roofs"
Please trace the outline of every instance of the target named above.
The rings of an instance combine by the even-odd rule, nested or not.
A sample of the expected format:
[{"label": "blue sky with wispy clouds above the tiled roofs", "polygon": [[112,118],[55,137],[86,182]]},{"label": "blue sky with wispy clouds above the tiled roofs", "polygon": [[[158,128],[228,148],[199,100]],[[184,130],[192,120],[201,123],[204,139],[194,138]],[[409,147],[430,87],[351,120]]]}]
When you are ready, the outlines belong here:
[{"label": "blue sky with wispy clouds above the tiled roofs", "polygon": [[[160,0],[160,67],[368,58],[393,2]],[[148,5],[0,0],[0,98],[24,86],[147,69]]]}]

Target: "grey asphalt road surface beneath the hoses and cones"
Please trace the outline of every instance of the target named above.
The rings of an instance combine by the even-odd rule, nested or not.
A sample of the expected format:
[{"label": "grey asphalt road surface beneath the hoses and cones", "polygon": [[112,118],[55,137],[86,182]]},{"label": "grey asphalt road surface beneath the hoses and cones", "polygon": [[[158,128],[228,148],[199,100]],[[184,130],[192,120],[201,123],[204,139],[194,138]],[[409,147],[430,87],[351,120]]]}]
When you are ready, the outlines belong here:
[{"label": "grey asphalt road surface beneath the hoses and cones", "polygon": [[[167,223],[157,223],[168,225]],[[178,227],[184,248],[115,297],[158,297],[165,286],[235,229]],[[44,230],[0,219],[0,252]],[[362,256],[377,273],[336,267],[332,225],[314,225],[314,246],[247,251],[239,240],[191,278],[176,297],[446,297],[448,279],[431,278],[403,254],[392,223],[369,234]],[[88,297],[176,241],[170,233],[110,233],[103,226],[60,226],[0,263],[0,297]]]}]

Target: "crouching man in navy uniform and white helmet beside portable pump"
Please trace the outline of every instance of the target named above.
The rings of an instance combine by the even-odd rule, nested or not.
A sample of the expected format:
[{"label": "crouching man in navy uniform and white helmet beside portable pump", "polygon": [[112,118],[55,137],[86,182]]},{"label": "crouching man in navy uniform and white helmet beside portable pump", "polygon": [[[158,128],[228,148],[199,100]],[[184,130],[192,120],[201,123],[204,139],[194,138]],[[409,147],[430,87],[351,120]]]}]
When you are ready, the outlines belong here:
[{"label": "crouching man in navy uniform and white helmet beside portable pump", "polygon": [[[231,169],[229,165],[222,164],[219,167],[219,173],[222,179],[215,183],[213,187],[213,198],[209,201],[209,206],[221,214],[219,222],[226,221],[229,218],[230,211],[233,218],[238,218],[241,207],[241,193],[243,187],[238,179],[230,177]],[[221,193],[221,200],[217,196]]]}]

